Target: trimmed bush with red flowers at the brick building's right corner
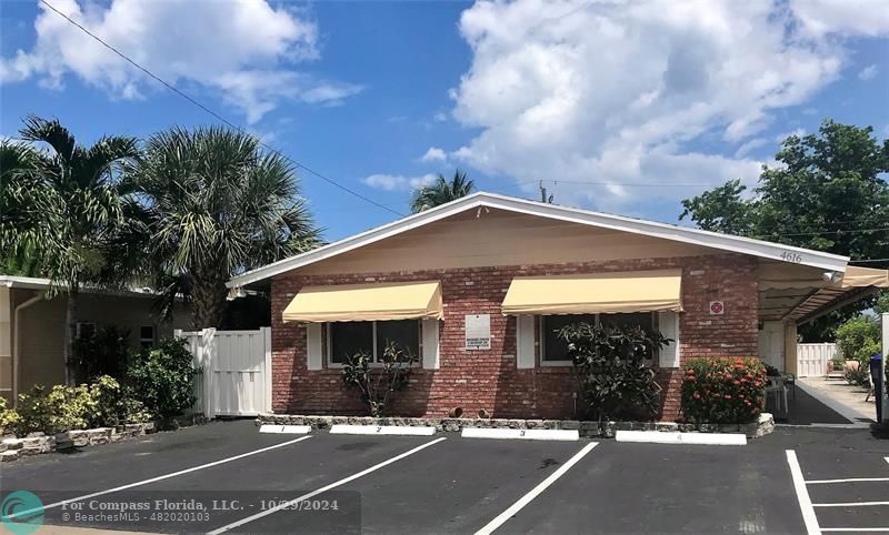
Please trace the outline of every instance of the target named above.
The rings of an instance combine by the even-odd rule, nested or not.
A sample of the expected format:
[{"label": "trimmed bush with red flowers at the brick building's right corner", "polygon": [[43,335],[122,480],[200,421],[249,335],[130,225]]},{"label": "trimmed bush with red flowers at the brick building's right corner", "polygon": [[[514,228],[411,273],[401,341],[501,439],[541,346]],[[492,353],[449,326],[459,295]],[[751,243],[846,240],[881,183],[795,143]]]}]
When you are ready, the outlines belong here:
[{"label": "trimmed bush with red flowers at the brick building's right corner", "polygon": [[691,422],[752,422],[767,383],[759,359],[692,359],[682,367],[682,414]]}]

